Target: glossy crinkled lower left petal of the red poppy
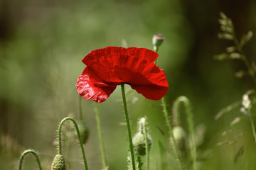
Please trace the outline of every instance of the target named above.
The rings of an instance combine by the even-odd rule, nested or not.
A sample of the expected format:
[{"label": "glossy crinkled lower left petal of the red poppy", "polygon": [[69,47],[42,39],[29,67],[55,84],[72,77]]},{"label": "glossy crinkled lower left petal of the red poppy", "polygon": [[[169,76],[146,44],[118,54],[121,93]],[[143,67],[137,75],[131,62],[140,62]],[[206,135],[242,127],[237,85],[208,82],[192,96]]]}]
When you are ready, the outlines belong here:
[{"label": "glossy crinkled lower left petal of the red poppy", "polygon": [[116,87],[117,85],[105,84],[105,82],[100,81],[97,75],[88,69],[88,67],[85,67],[80,77],[78,77],[76,84],[78,94],[82,98],[96,101],[97,103],[105,101]]}]

